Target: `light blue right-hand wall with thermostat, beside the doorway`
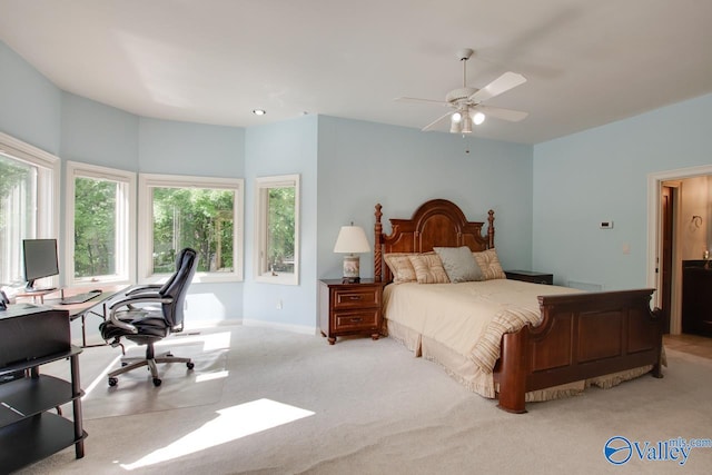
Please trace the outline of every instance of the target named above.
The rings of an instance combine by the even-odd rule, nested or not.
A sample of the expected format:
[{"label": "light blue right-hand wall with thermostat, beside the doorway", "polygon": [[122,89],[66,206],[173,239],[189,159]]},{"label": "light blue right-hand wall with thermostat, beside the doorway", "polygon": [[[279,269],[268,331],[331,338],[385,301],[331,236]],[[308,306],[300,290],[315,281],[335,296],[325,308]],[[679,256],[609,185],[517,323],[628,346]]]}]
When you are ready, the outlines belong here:
[{"label": "light blue right-hand wall with thermostat, beside the doorway", "polygon": [[645,287],[647,176],[712,164],[710,110],[712,95],[535,146],[534,267],[558,284]]}]

